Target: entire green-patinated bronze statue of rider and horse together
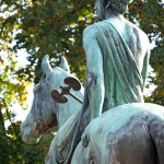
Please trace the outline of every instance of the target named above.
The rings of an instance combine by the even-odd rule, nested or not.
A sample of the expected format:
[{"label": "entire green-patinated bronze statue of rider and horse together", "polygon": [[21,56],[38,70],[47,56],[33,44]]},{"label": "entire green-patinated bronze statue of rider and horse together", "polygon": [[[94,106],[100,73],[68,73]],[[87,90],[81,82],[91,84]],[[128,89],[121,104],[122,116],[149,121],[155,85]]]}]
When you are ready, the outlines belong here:
[{"label": "entire green-patinated bronze statue of rider and horse together", "polygon": [[46,164],[163,164],[164,107],[143,103],[150,44],[148,36],[127,21],[128,0],[97,0],[99,22],[86,27],[86,84],[71,91],[61,104],[50,96],[73,77],[67,60],[51,68],[42,61],[44,75],[34,87],[33,106],[22,125],[22,139],[36,143],[59,125]]}]

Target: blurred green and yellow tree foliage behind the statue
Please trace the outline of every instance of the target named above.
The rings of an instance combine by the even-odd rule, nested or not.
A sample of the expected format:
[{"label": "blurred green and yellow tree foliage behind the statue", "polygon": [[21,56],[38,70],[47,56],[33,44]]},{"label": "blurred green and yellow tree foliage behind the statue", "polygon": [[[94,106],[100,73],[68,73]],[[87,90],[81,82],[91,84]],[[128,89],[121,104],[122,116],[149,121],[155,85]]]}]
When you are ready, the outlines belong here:
[{"label": "blurred green and yellow tree foliage behind the statue", "polygon": [[[15,103],[24,104],[26,86],[28,82],[38,82],[42,74],[40,61],[47,54],[52,66],[58,66],[60,56],[65,55],[71,71],[84,82],[85,55],[82,48],[82,33],[95,22],[94,3],[95,1],[89,0],[1,0],[0,163],[43,161],[42,154],[46,151],[42,150],[47,150],[52,136],[49,134],[49,140],[46,138],[43,144],[35,148],[23,144],[20,122],[14,121],[14,114],[10,108]],[[155,77],[150,77],[150,84],[154,83],[157,87],[147,97],[147,102],[164,105],[163,3],[161,0],[136,0],[125,16],[142,28],[155,45],[151,55]],[[16,62],[20,49],[25,49],[28,55],[27,66],[19,67]],[[7,120],[10,121],[8,128],[4,127]],[[40,154],[38,159],[34,157],[35,152]]]}]

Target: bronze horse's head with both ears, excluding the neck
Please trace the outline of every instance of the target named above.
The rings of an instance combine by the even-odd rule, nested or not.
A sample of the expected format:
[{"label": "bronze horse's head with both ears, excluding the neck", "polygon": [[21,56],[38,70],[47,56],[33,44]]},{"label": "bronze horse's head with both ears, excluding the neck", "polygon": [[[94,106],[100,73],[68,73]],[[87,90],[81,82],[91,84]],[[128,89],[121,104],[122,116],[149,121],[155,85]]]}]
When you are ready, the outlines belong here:
[{"label": "bronze horse's head with both ears, excluding the neck", "polygon": [[21,127],[22,139],[28,144],[37,143],[43,133],[57,125],[58,103],[51,98],[50,93],[52,90],[58,90],[63,83],[63,79],[69,75],[66,61],[62,57],[62,69],[59,67],[52,69],[48,56],[45,56],[42,61],[44,75],[34,86],[33,105]]}]

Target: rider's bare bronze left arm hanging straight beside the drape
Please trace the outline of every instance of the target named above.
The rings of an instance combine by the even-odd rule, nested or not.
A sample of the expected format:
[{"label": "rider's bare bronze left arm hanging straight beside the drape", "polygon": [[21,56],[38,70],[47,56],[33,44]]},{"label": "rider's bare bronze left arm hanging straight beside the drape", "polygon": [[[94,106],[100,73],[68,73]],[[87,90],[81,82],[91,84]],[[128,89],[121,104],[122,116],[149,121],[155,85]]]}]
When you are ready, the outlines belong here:
[{"label": "rider's bare bronze left arm hanging straight beside the drape", "polygon": [[91,118],[102,114],[104,103],[103,56],[96,40],[97,28],[92,25],[84,30],[83,47],[86,55],[86,85]]}]

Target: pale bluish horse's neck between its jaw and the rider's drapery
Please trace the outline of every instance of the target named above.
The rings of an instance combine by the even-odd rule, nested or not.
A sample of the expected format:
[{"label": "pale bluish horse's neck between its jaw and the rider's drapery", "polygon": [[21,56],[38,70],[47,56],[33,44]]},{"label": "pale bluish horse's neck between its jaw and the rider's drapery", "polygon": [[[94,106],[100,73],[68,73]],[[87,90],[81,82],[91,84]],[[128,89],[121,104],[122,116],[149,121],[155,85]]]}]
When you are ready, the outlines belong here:
[{"label": "pale bluish horse's neck between its jaw and the rider's drapery", "polygon": [[[71,91],[74,95],[77,95],[79,98],[83,99],[83,91],[74,92]],[[72,98],[70,95],[67,95],[68,102],[65,104],[59,103],[58,104],[58,124],[59,128],[72,116],[74,112],[78,112],[81,109],[82,104],[80,104],[78,101]]]}]

